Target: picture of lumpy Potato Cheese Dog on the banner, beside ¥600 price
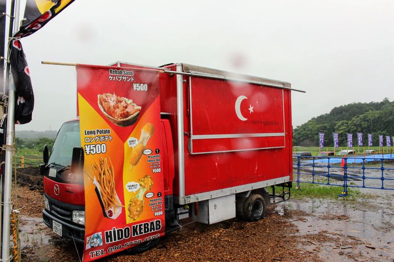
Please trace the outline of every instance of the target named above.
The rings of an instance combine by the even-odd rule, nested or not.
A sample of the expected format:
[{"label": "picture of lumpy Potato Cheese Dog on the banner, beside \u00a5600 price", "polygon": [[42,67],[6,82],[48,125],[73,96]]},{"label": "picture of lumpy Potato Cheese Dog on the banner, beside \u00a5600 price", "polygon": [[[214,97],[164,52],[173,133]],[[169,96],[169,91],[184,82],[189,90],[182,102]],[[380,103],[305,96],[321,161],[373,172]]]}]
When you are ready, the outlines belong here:
[{"label": "picture of lumpy Potato Cheese Dog on the banner, beside \u00a5600 price", "polygon": [[129,223],[131,220],[135,221],[144,211],[144,195],[145,192],[152,189],[153,179],[150,175],[145,175],[139,179],[139,190],[135,197],[131,198],[130,204],[127,207],[129,211]]}]

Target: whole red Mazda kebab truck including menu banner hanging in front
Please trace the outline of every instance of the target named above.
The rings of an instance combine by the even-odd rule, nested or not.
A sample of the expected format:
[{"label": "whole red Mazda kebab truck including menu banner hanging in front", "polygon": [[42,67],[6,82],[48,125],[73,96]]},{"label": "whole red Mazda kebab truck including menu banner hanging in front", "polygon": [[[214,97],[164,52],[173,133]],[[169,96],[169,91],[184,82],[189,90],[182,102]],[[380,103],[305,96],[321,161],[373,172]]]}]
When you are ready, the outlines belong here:
[{"label": "whole red Mazda kebab truck including menu banner hanging in front", "polygon": [[[142,77],[151,72],[156,82],[153,77]],[[130,248],[131,252],[145,251],[185,221],[213,224],[234,217],[257,221],[263,218],[265,206],[290,198],[294,89],[289,83],[185,63],[82,65],[77,66],[77,74],[82,86],[78,87],[80,118],[62,125],[50,156],[44,148],[41,174],[43,220],[55,233],[84,242],[86,250],[92,250],[84,260]],[[86,75],[94,77],[87,81]],[[100,77],[107,81],[102,88],[121,82],[129,85],[129,81],[130,87],[122,97],[114,94],[120,92],[118,86],[100,89],[97,95],[92,88],[99,86],[95,81]],[[154,87],[154,95],[143,93]],[[150,107],[155,106],[157,114],[143,111],[147,106],[142,101],[150,97]],[[89,117],[81,113],[88,111],[84,103],[91,106]],[[116,120],[119,112],[130,114]],[[149,114],[156,114],[157,119],[143,125]],[[100,121],[105,128],[87,127]],[[130,128],[126,133],[125,126]],[[135,130],[141,135],[131,133]],[[125,143],[125,151],[123,144],[113,146],[111,158],[95,158],[96,162],[88,164],[93,155],[108,152],[105,136],[115,139],[115,133]],[[97,144],[89,144],[95,140]],[[141,146],[139,155],[133,153],[137,152],[135,143]],[[138,169],[140,159],[146,169]],[[83,167],[84,173],[73,172],[76,166]],[[117,166],[121,166],[119,171]],[[275,192],[274,186],[282,190]],[[114,197],[106,197],[105,192],[111,190]],[[133,209],[134,202],[144,205],[144,211]],[[91,203],[96,205],[90,207]],[[149,214],[137,219],[147,210]],[[123,226],[117,226],[118,220]],[[106,221],[102,230],[90,229],[101,221]]]}]

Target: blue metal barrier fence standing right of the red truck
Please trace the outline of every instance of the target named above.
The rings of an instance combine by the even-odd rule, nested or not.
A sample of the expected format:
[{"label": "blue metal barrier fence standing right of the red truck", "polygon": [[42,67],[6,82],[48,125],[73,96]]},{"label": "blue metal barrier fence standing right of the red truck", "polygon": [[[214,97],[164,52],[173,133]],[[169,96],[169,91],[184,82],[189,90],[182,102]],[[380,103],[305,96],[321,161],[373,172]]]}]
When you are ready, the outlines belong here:
[{"label": "blue metal barrier fence standing right of the red truck", "polygon": [[293,180],[300,183],[343,187],[339,196],[347,196],[349,187],[394,190],[394,158],[293,156]]}]

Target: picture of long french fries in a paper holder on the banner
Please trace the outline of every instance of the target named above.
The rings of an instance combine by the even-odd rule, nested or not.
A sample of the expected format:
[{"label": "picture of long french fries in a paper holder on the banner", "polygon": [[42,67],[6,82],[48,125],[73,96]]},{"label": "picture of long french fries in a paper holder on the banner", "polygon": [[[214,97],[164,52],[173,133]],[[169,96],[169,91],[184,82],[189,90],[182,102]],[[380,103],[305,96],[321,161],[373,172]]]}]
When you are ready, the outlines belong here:
[{"label": "picture of long french fries in a paper holder on the banner", "polygon": [[106,217],[116,219],[122,213],[124,205],[115,190],[114,168],[109,157],[99,157],[99,163],[91,165],[94,172],[89,178],[96,186],[96,193]]}]

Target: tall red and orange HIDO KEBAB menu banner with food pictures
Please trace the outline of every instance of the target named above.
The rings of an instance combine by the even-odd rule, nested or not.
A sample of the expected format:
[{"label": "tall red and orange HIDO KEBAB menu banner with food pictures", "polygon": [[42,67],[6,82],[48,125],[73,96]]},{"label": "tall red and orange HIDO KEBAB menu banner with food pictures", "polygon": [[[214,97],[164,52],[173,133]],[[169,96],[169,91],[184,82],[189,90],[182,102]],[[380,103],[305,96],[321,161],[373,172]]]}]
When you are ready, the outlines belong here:
[{"label": "tall red and orange HIDO KEBAB menu banner with food pictures", "polygon": [[160,71],[77,66],[84,261],[164,235]]}]

